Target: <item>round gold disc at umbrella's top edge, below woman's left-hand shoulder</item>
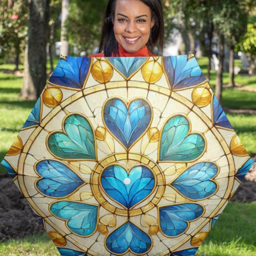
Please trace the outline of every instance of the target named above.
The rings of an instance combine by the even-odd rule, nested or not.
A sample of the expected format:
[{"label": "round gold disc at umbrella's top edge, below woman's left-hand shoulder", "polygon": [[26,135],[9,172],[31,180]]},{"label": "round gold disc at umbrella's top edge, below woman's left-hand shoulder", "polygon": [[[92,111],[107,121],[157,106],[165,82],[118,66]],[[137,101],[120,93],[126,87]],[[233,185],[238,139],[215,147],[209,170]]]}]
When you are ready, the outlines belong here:
[{"label": "round gold disc at umbrella's top edge, below woman's left-hand shoulder", "polygon": [[108,83],[113,76],[113,68],[105,60],[97,60],[92,64],[92,76],[101,84]]}]

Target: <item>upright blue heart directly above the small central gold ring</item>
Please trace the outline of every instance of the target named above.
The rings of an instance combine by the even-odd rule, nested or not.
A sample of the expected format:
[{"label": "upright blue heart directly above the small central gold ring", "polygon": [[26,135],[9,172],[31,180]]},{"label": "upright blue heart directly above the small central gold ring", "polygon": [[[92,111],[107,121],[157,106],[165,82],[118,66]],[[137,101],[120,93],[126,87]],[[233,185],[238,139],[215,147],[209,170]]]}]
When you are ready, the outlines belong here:
[{"label": "upright blue heart directly above the small central gold ring", "polygon": [[128,108],[123,100],[109,100],[103,110],[105,124],[128,150],[147,132],[151,122],[151,108],[143,99],[135,99],[129,102]]}]

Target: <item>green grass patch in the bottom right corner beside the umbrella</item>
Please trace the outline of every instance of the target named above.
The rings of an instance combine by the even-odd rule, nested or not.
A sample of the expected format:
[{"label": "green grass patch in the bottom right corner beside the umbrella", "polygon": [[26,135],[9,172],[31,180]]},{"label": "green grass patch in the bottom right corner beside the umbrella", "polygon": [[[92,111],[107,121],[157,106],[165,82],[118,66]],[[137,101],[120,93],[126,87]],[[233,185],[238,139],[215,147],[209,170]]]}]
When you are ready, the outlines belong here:
[{"label": "green grass patch in the bottom right corner beside the umbrella", "polygon": [[196,256],[256,256],[255,212],[255,202],[229,202]]}]

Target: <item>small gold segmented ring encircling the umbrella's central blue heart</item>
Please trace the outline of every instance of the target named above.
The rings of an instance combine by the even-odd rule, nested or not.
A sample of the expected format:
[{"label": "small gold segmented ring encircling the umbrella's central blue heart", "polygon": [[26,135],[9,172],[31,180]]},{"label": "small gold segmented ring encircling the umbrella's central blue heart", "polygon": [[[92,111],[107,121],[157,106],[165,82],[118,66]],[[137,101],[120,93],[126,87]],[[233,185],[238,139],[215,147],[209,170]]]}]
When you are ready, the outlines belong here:
[{"label": "small gold segmented ring encircling the umbrella's central blue heart", "polygon": [[[148,204],[137,209],[124,209],[121,207],[117,208],[116,206],[113,206],[112,204],[110,204],[108,200],[105,198],[105,196],[101,193],[101,190],[104,191],[104,189],[100,184],[100,178],[103,170],[105,170],[108,166],[112,164],[118,164],[121,166],[122,164],[119,164],[118,161],[127,160],[127,159],[137,160],[140,162],[139,164],[135,164],[134,166],[138,166],[138,165],[147,166],[147,168],[152,171],[156,180],[156,183],[154,185],[154,190],[156,189],[156,194],[154,198]],[[132,166],[132,168],[134,166]],[[127,170],[127,168],[124,168],[124,169]],[[130,170],[131,169],[129,169],[129,171]],[[109,212],[112,212],[112,213],[115,213],[116,215],[121,215],[121,216],[137,216],[150,211],[156,206],[156,204],[159,203],[165,190],[165,178],[164,178],[164,173],[162,172],[160,167],[147,156],[143,156],[142,154],[139,154],[139,153],[117,153],[117,154],[112,154],[110,156],[105,157],[98,164],[96,164],[96,166],[92,170],[90,185],[91,185],[94,198],[100,203],[102,207],[104,207]],[[151,192],[148,196],[152,195],[152,193],[153,192]],[[148,198],[148,196],[146,198]],[[144,198],[144,200],[146,198]],[[115,201],[112,198],[111,200]],[[135,207],[138,204],[135,204],[133,207]]]}]

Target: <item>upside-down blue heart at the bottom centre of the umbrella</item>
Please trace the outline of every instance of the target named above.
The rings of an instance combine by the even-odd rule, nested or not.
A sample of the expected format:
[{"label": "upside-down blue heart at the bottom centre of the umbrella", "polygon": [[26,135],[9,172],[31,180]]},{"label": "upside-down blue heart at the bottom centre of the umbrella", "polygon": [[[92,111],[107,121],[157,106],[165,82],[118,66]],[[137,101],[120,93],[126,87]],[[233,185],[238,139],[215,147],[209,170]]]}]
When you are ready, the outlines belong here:
[{"label": "upside-down blue heart at the bottom centre of the umbrella", "polygon": [[118,255],[128,251],[135,255],[146,254],[151,249],[152,240],[143,230],[127,221],[108,234],[106,246],[111,253]]}]

